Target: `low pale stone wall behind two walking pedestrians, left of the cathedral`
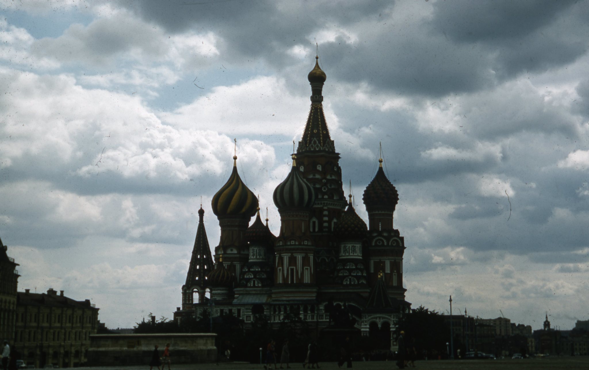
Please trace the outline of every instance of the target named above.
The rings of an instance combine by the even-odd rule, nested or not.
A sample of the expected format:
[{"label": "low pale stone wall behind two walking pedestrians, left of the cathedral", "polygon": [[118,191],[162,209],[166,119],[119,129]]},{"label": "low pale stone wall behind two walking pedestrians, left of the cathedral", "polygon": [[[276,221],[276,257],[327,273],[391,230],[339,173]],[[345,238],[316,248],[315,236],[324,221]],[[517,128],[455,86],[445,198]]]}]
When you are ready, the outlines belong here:
[{"label": "low pale stone wall behind two walking pedestrians, left of the cathedral", "polygon": [[90,336],[88,365],[148,365],[154,346],[160,357],[170,343],[172,364],[214,362],[217,359],[214,333],[194,334],[98,334]]}]

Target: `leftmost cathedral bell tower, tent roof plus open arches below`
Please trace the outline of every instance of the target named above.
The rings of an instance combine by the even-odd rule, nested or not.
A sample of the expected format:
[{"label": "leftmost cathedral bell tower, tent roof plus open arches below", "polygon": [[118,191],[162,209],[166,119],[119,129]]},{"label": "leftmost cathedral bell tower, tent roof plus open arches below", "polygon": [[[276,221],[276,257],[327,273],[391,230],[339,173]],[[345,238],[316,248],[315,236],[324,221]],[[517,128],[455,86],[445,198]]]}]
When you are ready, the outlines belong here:
[{"label": "leftmost cathedral bell tower, tent roof plus open arches below", "polygon": [[192,308],[194,304],[194,293],[198,294],[197,303],[203,303],[204,294],[210,285],[207,280],[207,274],[213,271],[213,258],[211,257],[207,231],[204,230],[203,218],[204,209],[203,205],[200,205],[200,209],[198,209],[198,228],[196,229],[192,257],[188,266],[188,274],[186,274],[186,283],[182,286],[183,310],[190,310]]}]

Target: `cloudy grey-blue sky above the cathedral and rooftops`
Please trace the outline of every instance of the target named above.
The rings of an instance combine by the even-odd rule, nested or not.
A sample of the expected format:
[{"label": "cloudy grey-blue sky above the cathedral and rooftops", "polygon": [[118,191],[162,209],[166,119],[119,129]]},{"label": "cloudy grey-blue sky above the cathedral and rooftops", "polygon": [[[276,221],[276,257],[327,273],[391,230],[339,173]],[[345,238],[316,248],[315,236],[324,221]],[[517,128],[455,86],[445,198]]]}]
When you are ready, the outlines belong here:
[{"label": "cloudy grey-blue sky above the cathedral and rooftops", "polygon": [[0,0],[0,237],[110,328],[181,303],[197,209],[269,207],[319,61],[359,214],[382,141],[414,307],[589,319],[589,4]]}]

